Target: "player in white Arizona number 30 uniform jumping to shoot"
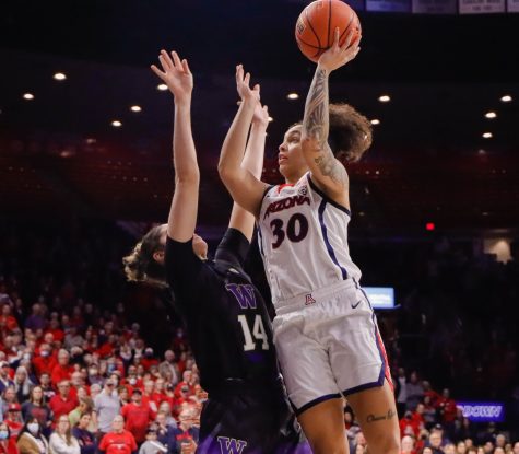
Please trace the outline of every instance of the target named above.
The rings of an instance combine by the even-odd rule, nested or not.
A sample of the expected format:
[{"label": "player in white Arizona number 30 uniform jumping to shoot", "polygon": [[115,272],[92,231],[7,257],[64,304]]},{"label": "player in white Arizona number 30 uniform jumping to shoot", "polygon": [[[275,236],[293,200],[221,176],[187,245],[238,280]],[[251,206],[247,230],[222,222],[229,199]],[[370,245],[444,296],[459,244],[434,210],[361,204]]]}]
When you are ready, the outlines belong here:
[{"label": "player in white Arizona number 30 uniform jumping to shoot", "polygon": [[[236,69],[244,102],[222,148],[219,171],[234,200],[257,218],[270,282],[274,341],[288,397],[314,453],[347,453],[342,396],[353,407],[370,454],[400,454],[386,352],[347,247],[349,177],[337,160],[358,160],[371,143],[369,121],[347,105],[329,106],[328,78],[358,53],[352,34],[319,59],[302,125],[280,145],[286,184],[270,187],[241,168],[259,85]],[[330,128],[331,124],[331,128]],[[335,155],[334,155],[335,153]]]}]

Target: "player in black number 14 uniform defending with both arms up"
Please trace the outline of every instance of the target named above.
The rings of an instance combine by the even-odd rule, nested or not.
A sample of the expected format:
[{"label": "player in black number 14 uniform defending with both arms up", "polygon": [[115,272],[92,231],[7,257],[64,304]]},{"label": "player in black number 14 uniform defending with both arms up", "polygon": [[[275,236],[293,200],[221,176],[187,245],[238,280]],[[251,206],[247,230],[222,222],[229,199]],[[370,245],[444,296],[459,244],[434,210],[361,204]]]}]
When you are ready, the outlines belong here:
[{"label": "player in black number 14 uniform defending with both arms up", "polygon": [[[214,260],[194,234],[199,168],[191,135],[192,75],[186,60],[164,50],[153,71],[175,96],[176,188],[168,223],[152,229],[125,258],[129,279],[167,283],[187,326],[201,386],[209,393],[197,453],[310,453],[280,380],[264,302],[243,265],[253,217],[236,203]],[[259,176],[268,124],[258,107],[243,165]],[[258,152],[259,151],[259,152]]]}]

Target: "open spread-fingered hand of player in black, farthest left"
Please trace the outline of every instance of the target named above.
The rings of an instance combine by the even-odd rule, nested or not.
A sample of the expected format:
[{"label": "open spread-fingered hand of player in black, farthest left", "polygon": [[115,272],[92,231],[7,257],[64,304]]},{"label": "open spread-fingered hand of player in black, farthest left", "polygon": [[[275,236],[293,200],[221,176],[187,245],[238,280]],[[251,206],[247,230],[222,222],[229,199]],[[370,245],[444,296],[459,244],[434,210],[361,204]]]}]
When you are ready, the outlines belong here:
[{"label": "open spread-fingered hand of player in black, farthest left", "polygon": [[158,61],[163,70],[161,71],[155,65],[152,65],[151,69],[174,94],[175,102],[190,101],[193,81],[188,60],[180,60],[175,50],[172,51],[170,57],[165,50],[161,50]]}]

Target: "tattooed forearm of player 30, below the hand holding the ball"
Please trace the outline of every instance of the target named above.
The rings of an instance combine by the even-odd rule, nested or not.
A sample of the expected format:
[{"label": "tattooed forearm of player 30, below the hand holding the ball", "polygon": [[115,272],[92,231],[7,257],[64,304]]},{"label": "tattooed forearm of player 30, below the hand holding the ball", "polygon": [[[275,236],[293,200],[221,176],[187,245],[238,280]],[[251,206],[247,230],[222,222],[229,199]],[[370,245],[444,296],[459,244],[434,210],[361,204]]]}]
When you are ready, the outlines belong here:
[{"label": "tattooed forearm of player 30, below the hand holding the ball", "polygon": [[310,139],[317,140],[322,150],[328,140],[329,112],[328,112],[328,74],[317,68],[306,100],[303,127]]}]

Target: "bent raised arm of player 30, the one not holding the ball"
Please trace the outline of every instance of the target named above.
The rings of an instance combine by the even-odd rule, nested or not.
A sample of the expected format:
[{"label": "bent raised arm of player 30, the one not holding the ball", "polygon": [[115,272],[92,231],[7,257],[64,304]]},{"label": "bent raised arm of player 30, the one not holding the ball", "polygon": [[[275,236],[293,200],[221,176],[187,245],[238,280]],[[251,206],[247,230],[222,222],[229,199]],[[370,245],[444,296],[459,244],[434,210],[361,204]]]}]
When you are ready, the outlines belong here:
[{"label": "bent raised arm of player 30, the one not holding the ball", "polygon": [[259,85],[251,90],[249,80],[250,74],[244,75],[244,68],[237,66],[236,85],[241,104],[222,145],[219,174],[234,201],[257,217],[267,185],[241,166],[250,123],[259,103]]}]

